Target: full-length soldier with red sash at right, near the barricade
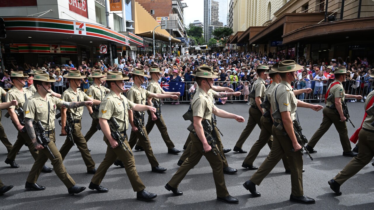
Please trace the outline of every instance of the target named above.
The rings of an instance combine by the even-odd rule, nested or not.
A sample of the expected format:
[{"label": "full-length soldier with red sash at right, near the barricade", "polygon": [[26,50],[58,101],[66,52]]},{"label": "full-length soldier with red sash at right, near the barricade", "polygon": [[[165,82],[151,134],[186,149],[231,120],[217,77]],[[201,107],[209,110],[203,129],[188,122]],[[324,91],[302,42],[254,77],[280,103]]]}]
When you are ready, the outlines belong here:
[{"label": "full-length soldier with red sash at right, near the barricade", "polygon": [[[323,109],[324,115],[322,118],[321,126],[319,126],[319,129],[316,130],[312,138],[310,138],[308,145],[306,146],[306,149],[309,151],[309,153],[317,152],[313,148],[316,146],[319,139],[321,139],[322,136],[328,131],[331,125],[334,124],[336,130],[339,133],[341,146],[343,147],[343,156],[356,157],[358,155],[357,152],[351,150],[352,148],[348,138],[346,117],[344,117],[343,114],[342,104],[344,103],[345,97],[361,99],[362,96],[349,95],[344,93],[344,87],[341,83],[346,80],[346,73],[347,70],[344,67],[337,67],[335,68],[335,71],[330,72],[330,74],[335,75],[335,80],[329,85],[326,93],[328,95],[325,98],[327,99],[328,96],[334,95],[334,103],[326,100],[326,106]],[[335,107],[330,108],[330,106],[333,104],[335,104]],[[339,114],[335,113],[336,110]]]}]

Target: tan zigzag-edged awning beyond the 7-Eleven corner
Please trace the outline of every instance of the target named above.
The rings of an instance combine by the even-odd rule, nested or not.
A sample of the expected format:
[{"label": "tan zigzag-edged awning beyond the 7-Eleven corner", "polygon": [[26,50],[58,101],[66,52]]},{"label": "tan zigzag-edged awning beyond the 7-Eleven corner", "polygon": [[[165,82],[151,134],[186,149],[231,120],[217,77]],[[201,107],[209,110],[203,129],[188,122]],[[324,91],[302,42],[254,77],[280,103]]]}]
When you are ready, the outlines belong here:
[{"label": "tan zigzag-edged awning beyond the 7-Eleven corner", "polygon": [[[138,2],[135,1],[135,34],[153,38],[153,29],[160,25]],[[162,41],[169,41],[170,34],[165,29],[157,27],[154,38]],[[180,40],[172,37],[171,42],[177,43]]]}]

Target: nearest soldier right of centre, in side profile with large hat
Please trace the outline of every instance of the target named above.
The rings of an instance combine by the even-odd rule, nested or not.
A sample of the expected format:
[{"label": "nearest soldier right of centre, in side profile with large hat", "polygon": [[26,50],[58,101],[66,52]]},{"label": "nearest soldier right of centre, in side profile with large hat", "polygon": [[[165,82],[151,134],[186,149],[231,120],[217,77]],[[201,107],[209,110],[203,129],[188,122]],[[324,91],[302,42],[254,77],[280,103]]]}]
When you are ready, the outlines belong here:
[{"label": "nearest soldier right of centre, in side profile with large hat", "polygon": [[[260,197],[261,194],[256,191],[256,185],[260,185],[263,179],[286,155],[289,160],[289,169],[291,170],[291,195],[289,200],[302,204],[315,203],[314,199],[304,195],[303,157],[299,151],[301,146],[297,142],[294,133],[293,121],[296,120],[297,107],[311,108],[315,111],[319,111],[323,107],[321,105],[307,104],[296,99],[291,82],[295,80],[296,71],[301,68],[300,65],[291,60],[280,61],[277,64],[272,66],[272,70],[279,72],[282,81],[273,88],[270,102],[272,113],[279,111],[281,119],[274,119],[272,127],[273,143],[269,155],[258,168],[257,172],[248,181],[243,183],[243,186],[249,190],[253,197]],[[281,123],[283,127],[281,130],[278,130],[276,127]],[[294,149],[294,152],[291,149]]]}]

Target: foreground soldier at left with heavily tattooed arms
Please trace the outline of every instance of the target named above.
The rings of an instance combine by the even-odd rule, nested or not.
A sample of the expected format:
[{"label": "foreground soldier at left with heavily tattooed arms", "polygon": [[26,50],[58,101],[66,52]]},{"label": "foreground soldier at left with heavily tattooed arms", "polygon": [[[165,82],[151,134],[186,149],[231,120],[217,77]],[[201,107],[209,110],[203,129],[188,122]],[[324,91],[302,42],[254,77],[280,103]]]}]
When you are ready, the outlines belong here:
[{"label": "foreground soldier at left with heavily tattooed arms", "polygon": [[[24,104],[24,116],[27,133],[30,136],[31,142],[33,142],[33,145],[39,151],[39,154],[30,170],[30,173],[28,174],[25,188],[36,191],[45,189],[44,186],[38,185],[36,182],[40,172],[43,169],[43,166],[49,159],[52,162],[53,170],[55,171],[56,175],[68,188],[68,193],[70,195],[78,194],[84,191],[86,188],[76,185],[73,178],[71,178],[71,176],[67,173],[66,168],[62,163],[61,154],[55,144],[55,115],[56,109],[58,108],[77,108],[85,105],[91,106],[92,102],[66,102],[52,96],[50,93],[50,83],[55,82],[56,80],[55,78],[49,76],[48,73],[35,72],[33,80],[37,92],[26,100]],[[33,125],[34,121],[40,121],[44,127],[45,134],[50,139],[48,147],[55,158],[50,155],[46,148],[37,142]]]}]

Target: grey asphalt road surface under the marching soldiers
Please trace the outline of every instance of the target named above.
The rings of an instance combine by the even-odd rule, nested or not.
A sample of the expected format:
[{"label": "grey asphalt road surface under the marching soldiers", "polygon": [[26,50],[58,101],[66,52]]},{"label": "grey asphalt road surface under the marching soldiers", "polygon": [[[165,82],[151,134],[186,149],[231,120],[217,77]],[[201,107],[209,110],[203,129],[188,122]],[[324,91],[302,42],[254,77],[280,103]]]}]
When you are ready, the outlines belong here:
[{"label": "grey asphalt road surface under the marching soldiers", "polygon": [[[351,119],[356,128],[360,126],[364,103],[348,103]],[[242,115],[248,120],[249,106],[244,103],[218,105],[235,114]],[[188,109],[188,104],[163,105],[162,112],[168,127],[169,135],[176,148],[182,149],[187,138],[187,126],[182,114]],[[3,114],[6,111],[3,111]],[[298,115],[300,124],[303,127],[304,135],[311,138],[322,121],[322,111],[315,112],[311,109],[299,108]],[[91,126],[91,118],[85,110],[83,115],[82,133],[85,134]],[[10,123],[10,119],[2,118],[6,134],[12,143],[16,140],[16,130]],[[147,119],[147,118],[146,118]],[[233,119],[218,118],[218,127],[223,133],[223,144],[226,148],[233,148],[245,123],[238,123]],[[347,124],[349,135],[352,135],[356,128]],[[56,145],[62,146],[65,138],[58,136],[61,127],[56,124]],[[127,131],[129,134],[129,130]],[[249,151],[255,140],[257,140],[260,129],[256,127],[246,140],[243,149]],[[149,201],[137,201],[136,193],[132,190],[126,175],[125,169],[111,166],[101,185],[109,188],[108,193],[98,194],[88,189],[93,175],[86,174],[86,166],[83,163],[80,152],[73,147],[64,160],[68,173],[73,177],[79,186],[86,186],[87,189],[77,195],[68,195],[67,189],[58,179],[54,172],[42,173],[37,183],[46,186],[44,191],[27,191],[24,189],[27,175],[34,163],[33,158],[26,147],[23,147],[16,158],[20,165],[18,169],[11,169],[3,161],[6,159],[6,148],[0,145],[0,177],[6,185],[14,185],[14,188],[0,197],[0,209],[374,209],[373,193],[373,166],[368,164],[357,175],[349,179],[341,186],[343,195],[337,196],[329,188],[327,181],[332,179],[352,159],[342,156],[338,133],[332,126],[328,133],[315,146],[318,151],[312,154],[314,160],[304,155],[303,184],[304,194],[315,198],[316,204],[303,205],[289,201],[291,194],[290,175],[284,173],[282,161],[263,180],[257,191],[261,197],[254,198],[246,191],[242,184],[248,180],[254,171],[248,171],[241,167],[246,154],[229,152],[226,154],[229,166],[238,169],[234,175],[225,175],[226,186],[230,195],[239,199],[239,204],[226,204],[216,200],[215,185],[212,170],[208,161],[203,157],[197,166],[190,170],[181,182],[179,189],[184,192],[182,196],[175,197],[164,188],[164,185],[177,171],[177,161],[180,154],[172,155],[167,153],[165,143],[161,139],[160,132],[156,126],[149,134],[153,152],[160,163],[160,166],[168,170],[163,174],[152,173],[150,164],[144,152],[134,151],[135,163],[138,173],[146,186],[146,190],[157,194],[157,198]],[[102,140],[103,134],[98,131],[88,142],[92,149],[92,158],[99,166],[104,159],[106,145]],[[352,144],[352,148],[354,145]],[[269,148],[265,146],[254,165],[260,166],[264,158],[269,154]],[[47,161],[50,165],[50,161]]]}]

